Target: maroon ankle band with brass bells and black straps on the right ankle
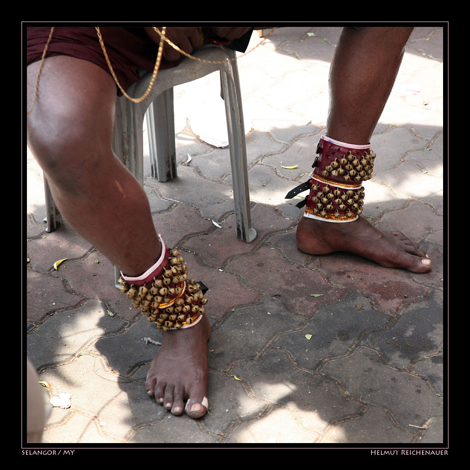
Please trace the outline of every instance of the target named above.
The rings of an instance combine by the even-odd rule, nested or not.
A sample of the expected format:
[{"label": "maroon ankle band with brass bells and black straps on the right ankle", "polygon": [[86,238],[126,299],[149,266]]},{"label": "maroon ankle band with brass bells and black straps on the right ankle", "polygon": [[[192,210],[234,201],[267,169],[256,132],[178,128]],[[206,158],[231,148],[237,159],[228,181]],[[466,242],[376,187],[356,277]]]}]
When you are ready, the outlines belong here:
[{"label": "maroon ankle band with brass bells and black straps on the right ankle", "polygon": [[286,199],[310,189],[297,207],[304,217],[327,222],[353,222],[362,212],[362,182],[371,178],[376,154],[370,144],[354,145],[322,136],[309,181],[292,189]]}]

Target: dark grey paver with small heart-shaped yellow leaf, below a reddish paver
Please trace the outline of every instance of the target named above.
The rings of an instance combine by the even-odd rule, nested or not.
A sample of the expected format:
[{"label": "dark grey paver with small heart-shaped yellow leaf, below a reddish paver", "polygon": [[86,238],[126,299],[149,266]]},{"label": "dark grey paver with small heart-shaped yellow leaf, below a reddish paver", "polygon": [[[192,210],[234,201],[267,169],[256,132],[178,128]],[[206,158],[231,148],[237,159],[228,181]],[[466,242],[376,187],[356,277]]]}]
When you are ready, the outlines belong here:
[{"label": "dark grey paver with small heart-shaped yellow leaf, below a reddish paver", "polygon": [[300,367],[314,371],[324,361],[348,354],[389,320],[389,315],[372,308],[369,299],[351,293],[341,302],[320,307],[302,329],[282,334],[273,346],[288,351]]}]

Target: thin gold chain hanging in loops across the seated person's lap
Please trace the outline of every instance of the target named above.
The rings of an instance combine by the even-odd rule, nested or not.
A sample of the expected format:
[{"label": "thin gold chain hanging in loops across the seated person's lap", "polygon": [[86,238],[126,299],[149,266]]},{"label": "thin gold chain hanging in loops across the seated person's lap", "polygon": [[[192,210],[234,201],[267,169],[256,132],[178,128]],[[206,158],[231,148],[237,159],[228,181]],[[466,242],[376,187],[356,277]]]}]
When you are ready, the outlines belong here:
[{"label": "thin gold chain hanging in loops across the seated person's lap", "polygon": [[[162,31],[160,31],[159,29],[157,29],[155,26],[154,26],[154,30],[155,32],[157,32],[159,35],[160,35],[160,44],[158,46],[158,53],[157,53],[157,60],[155,62],[155,68],[153,70],[153,74],[152,74],[152,78],[150,79],[150,83],[148,84],[148,87],[147,87],[147,90],[144,94],[142,94],[142,96],[140,98],[133,98],[132,96],[128,95],[125,90],[121,87],[121,85],[119,84],[119,81],[118,81],[118,77],[116,76],[116,73],[114,72],[114,69],[113,69],[113,66],[111,65],[111,61],[109,60],[109,57],[108,57],[108,53],[106,52],[106,47],[104,45],[104,41],[103,41],[103,38],[101,36],[101,32],[99,30],[99,27],[95,27],[96,29],[96,35],[98,36],[98,41],[99,41],[99,44],[101,46],[101,49],[103,50],[103,54],[104,54],[104,57],[106,59],[106,63],[108,64],[108,68],[109,68],[109,71],[111,72],[111,75],[112,77],[114,78],[114,81],[116,82],[116,85],[118,86],[119,90],[122,92],[122,94],[129,100],[131,100],[132,102],[134,103],[141,103],[145,98],[147,98],[147,96],[151,93],[152,91],[152,88],[153,88],[153,85],[155,83],[155,80],[157,78],[157,75],[158,75],[158,71],[160,69],[160,64],[162,62],[162,53],[163,53],[163,44],[164,42],[166,42],[167,44],[169,44],[171,47],[173,47],[174,49],[176,49],[180,54],[183,54],[184,56],[186,57],[189,57],[190,59],[192,60],[195,60],[195,61],[198,61],[198,62],[203,62],[205,64],[224,64],[226,61],[225,60],[218,60],[218,61],[213,61],[213,60],[205,60],[205,59],[200,59],[199,57],[194,57],[190,54],[188,54],[187,52],[185,52],[184,50],[180,49],[178,46],[176,46],[176,44],[172,43],[167,37],[166,37],[166,26],[164,26],[162,28]],[[250,52],[254,51],[258,46],[261,46],[261,44],[269,38],[269,36],[271,36],[271,34],[274,32],[274,30],[277,29],[277,28],[272,28],[272,30],[269,32],[269,34],[267,34],[263,39],[262,41],[260,41],[255,47],[253,47],[252,49],[250,49],[249,51],[245,52],[244,54],[238,56],[238,58],[241,58],[247,54],[249,54]],[[43,68],[43,63],[44,63],[44,59],[46,58],[46,52],[47,52],[47,48],[49,47],[49,43],[50,43],[50,40],[52,39],[52,34],[54,32],[54,27],[51,27],[50,28],[50,33],[49,33],[49,38],[47,39],[47,43],[46,43],[46,47],[44,48],[44,52],[43,52],[43,55],[41,57],[41,64],[39,65],[39,70],[38,70],[38,74],[36,76],[36,83],[34,85],[34,96],[33,96],[33,103],[31,105],[31,109],[29,110],[29,112],[27,113],[27,115],[29,116],[31,114],[31,112],[33,111],[33,108],[34,108],[34,104],[36,102],[36,97],[37,97],[37,94],[38,94],[38,85],[39,85],[39,76],[41,74],[41,70]],[[236,60],[236,57],[233,58],[233,59],[227,59],[229,62],[232,62],[234,60]]]}]

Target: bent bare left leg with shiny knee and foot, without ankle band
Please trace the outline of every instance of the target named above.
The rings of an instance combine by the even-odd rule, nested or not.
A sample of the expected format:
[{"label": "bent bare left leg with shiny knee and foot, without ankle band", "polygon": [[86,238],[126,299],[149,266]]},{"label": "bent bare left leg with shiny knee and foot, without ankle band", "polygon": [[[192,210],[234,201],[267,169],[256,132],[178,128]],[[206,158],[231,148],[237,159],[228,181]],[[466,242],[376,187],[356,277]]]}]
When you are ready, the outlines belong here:
[{"label": "bent bare left leg with shiny knee and foot, without ankle band", "polygon": [[[38,62],[28,66],[28,103],[38,67]],[[139,276],[158,260],[161,244],[143,189],[112,151],[115,105],[116,85],[100,67],[49,57],[27,120],[28,145],[71,227],[126,275]],[[189,398],[198,409],[188,414],[200,417],[206,412],[200,403],[206,394],[209,321],[204,316],[192,328],[163,334],[148,393],[153,395],[157,384],[157,400],[164,399],[175,414]]]}]

